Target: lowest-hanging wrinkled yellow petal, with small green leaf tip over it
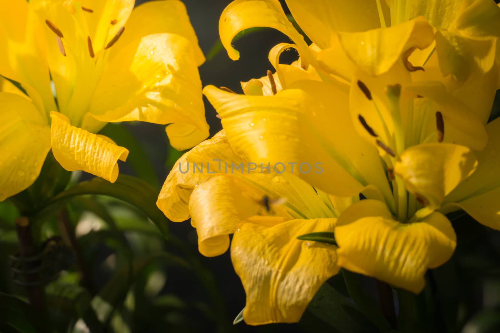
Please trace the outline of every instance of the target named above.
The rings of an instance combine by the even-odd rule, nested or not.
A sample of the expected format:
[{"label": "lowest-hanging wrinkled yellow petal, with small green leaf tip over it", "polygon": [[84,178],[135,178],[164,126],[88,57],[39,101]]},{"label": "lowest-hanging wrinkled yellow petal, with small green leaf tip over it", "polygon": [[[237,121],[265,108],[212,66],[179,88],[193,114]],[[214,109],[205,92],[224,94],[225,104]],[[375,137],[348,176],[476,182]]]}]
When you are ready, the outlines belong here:
[{"label": "lowest-hanging wrinkled yellow petal, with small green leaf tip over it", "polygon": [[238,226],[231,260],[246,292],[246,324],[296,323],[319,287],[338,272],[335,247],[296,237],[333,230],[335,219],[255,218]]}]

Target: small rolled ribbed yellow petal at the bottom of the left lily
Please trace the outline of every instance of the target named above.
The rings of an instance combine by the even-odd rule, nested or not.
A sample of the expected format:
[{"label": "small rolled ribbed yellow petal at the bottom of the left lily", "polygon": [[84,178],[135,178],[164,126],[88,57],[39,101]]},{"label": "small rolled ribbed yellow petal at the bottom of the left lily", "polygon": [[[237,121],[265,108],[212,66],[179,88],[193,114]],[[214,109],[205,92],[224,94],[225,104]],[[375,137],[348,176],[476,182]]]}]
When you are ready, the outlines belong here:
[{"label": "small rolled ribbed yellow petal at the bottom of the left lily", "polygon": [[113,183],[118,177],[116,162],[125,161],[128,150],[71,126],[61,113],[52,111],[50,117],[51,146],[57,162],[68,171],[82,170]]}]

